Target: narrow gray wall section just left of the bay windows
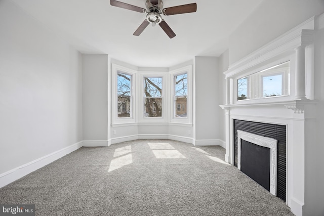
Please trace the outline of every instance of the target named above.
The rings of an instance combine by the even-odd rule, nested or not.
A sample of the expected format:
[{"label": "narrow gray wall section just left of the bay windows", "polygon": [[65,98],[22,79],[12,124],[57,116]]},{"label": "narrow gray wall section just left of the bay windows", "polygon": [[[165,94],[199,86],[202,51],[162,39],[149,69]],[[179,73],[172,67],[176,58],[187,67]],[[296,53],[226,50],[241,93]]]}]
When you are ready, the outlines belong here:
[{"label": "narrow gray wall section just left of the bay windows", "polygon": [[108,139],[108,55],[82,55],[83,139]]}]

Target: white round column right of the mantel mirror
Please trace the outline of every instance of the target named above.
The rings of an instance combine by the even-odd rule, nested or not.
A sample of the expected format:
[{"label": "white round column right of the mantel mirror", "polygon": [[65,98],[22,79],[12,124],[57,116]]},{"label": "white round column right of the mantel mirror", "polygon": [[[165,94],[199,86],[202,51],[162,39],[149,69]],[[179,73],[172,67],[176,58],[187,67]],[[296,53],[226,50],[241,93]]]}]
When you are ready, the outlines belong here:
[{"label": "white round column right of the mantel mirror", "polygon": [[305,92],[305,46],[300,46],[296,51],[296,76],[295,76],[295,98],[306,99]]}]

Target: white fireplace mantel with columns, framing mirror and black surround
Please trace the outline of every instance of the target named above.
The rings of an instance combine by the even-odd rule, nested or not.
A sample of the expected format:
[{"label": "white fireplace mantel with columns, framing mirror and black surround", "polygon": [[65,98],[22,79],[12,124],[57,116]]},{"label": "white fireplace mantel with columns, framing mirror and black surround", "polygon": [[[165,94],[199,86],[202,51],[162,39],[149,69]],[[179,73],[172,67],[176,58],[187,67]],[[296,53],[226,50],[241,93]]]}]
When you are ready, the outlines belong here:
[{"label": "white fireplace mantel with columns, framing mirror and black surround", "polygon": [[[324,20],[324,15],[318,16]],[[316,106],[314,100],[314,41],[318,17],[312,17],[279,36],[224,72],[226,79],[225,161],[234,164],[233,120],[286,125],[287,188],[286,203],[296,215],[305,205],[305,151],[315,143]],[[237,101],[235,84],[245,77],[276,64],[290,61],[290,94],[286,96]],[[306,159],[305,159],[306,158]]]}]

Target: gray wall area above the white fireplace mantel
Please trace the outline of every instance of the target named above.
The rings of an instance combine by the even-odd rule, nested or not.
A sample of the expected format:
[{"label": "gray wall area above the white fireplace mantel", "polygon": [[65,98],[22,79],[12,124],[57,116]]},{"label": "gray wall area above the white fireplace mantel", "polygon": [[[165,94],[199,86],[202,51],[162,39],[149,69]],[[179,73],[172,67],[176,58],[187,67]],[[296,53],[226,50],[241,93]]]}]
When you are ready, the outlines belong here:
[{"label": "gray wall area above the white fireplace mantel", "polygon": [[323,0],[263,1],[229,37],[229,63],[238,61],[308,18],[323,12]]}]

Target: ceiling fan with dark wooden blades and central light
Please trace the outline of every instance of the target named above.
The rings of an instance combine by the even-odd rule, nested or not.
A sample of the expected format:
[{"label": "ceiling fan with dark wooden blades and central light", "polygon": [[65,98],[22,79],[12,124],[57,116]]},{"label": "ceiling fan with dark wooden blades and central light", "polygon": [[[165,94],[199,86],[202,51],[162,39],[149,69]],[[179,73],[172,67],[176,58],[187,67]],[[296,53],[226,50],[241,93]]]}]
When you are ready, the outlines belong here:
[{"label": "ceiling fan with dark wooden blades and central light", "polygon": [[158,24],[170,38],[176,36],[170,26],[166,23],[164,19],[162,19],[161,14],[169,16],[175,14],[185,14],[185,13],[192,13],[197,11],[197,4],[187,4],[187,5],[179,5],[170,8],[163,8],[163,1],[162,0],[146,0],[146,9],[140,8],[134,5],[130,5],[123,2],[118,2],[115,0],[110,0],[110,5],[128,9],[131,11],[136,11],[140,13],[147,13],[146,19],[144,22],[138,27],[138,29],[134,32],[135,36],[139,36],[144,29],[148,26],[148,24],[152,23],[152,26]]}]

